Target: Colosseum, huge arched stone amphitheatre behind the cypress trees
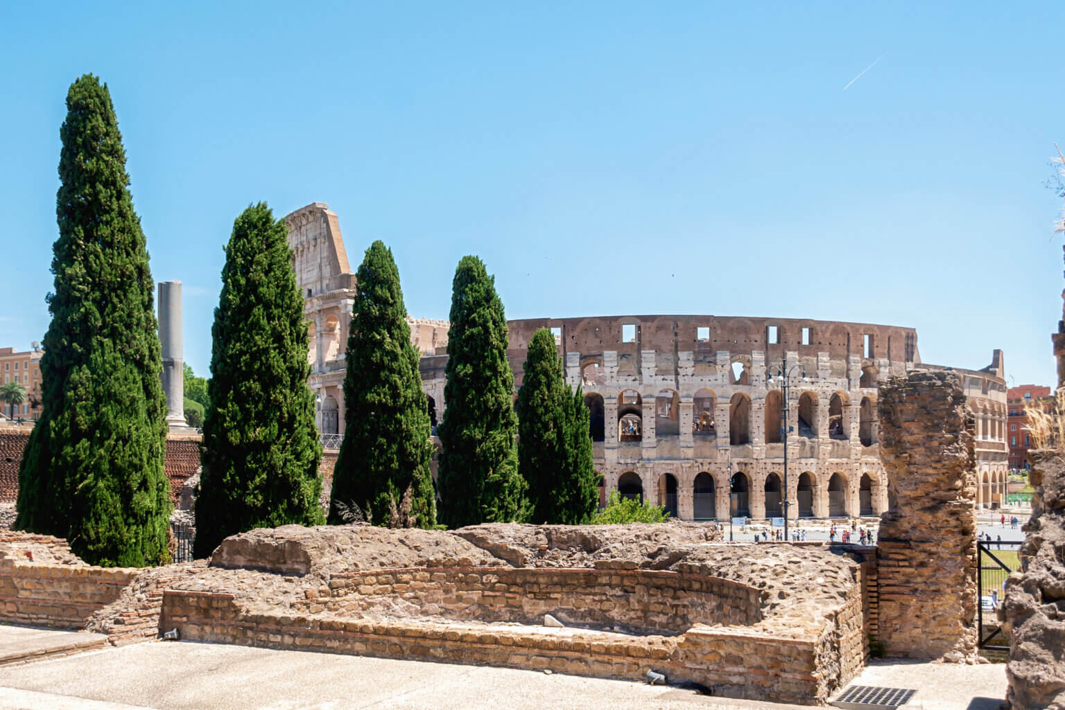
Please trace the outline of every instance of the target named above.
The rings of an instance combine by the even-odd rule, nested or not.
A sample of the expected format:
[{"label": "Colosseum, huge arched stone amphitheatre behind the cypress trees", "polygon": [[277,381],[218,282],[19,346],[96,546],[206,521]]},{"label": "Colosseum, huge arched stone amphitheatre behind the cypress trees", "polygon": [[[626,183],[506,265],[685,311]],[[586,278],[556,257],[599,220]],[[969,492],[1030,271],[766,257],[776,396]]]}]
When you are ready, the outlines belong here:
[{"label": "Colosseum, huge arched stone amphitheatre behind the cypress trees", "polygon": [[[337,215],[314,202],[286,217],[311,321],[318,428],[344,431],[344,344],[355,277]],[[447,323],[413,319],[430,416],[444,402]],[[913,328],[712,315],[510,320],[521,386],[532,333],[555,334],[566,378],[581,386],[602,497],[665,506],[682,519],[876,515],[887,507],[876,444],[876,390],[922,364]],[[1001,351],[963,375],[976,415],[978,505],[1004,500],[1005,380]],[[439,443],[439,442],[438,442]],[[785,483],[786,481],[786,483]],[[787,493],[785,495],[785,485]]]}]

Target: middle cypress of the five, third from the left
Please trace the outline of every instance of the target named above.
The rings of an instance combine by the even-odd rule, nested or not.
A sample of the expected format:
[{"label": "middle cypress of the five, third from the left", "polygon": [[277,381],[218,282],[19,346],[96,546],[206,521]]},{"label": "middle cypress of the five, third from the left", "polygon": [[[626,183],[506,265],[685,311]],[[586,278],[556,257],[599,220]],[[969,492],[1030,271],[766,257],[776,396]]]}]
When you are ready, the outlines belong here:
[{"label": "middle cypress of the five, third from the left", "polygon": [[437,505],[429,411],[392,250],[374,242],[356,277],[344,441],[333,469],[329,522],[343,522],[340,501],[358,503],[379,525],[431,527]]}]

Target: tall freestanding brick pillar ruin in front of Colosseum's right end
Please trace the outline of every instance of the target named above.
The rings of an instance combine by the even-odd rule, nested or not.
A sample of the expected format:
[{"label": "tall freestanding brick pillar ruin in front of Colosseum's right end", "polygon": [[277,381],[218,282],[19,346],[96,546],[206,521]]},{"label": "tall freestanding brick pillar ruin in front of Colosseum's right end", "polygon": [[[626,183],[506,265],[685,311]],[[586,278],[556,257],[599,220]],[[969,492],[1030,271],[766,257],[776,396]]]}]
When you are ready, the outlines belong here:
[{"label": "tall freestanding brick pillar ruin in front of Colosseum's right end", "polygon": [[948,370],[880,390],[890,507],[880,527],[879,631],[890,656],[971,658],[977,646],[973,417]]}]

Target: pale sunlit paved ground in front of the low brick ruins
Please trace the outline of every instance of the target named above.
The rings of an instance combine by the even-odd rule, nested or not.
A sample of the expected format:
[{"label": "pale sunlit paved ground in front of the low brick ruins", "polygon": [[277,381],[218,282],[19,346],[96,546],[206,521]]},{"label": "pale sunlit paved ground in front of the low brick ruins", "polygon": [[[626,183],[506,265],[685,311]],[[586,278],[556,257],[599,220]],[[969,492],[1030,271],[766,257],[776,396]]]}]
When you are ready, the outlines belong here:
[{"label": "pale sunlit paved ground in front of the low brick ruins", "polygon": [[[14,627],[0,626],[0,643]],[[7,637],[6,641],[3,638]],[[906,708],[994,710],[1004,666],[879,662],[854,681],[915,688]],[[150,642],[0,667],[19,710],[770,710],[794,708],[643,683],[420,661]]]}]

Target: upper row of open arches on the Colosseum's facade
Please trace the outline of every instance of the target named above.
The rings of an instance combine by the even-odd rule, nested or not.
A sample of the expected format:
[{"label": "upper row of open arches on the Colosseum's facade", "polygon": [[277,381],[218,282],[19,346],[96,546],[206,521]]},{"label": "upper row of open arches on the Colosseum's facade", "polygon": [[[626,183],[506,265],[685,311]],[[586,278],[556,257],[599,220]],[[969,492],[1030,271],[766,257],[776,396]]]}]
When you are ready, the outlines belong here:
[{"label": "upper row of open arches on the Colosseum's facade", "polygon": [[[690,426],[693,436],[717,436],[718,425],[715,413],[716,396],[710,390],[700,390],[692,398],[691,420],[681,422],[681,397],[675,390],[661,390],[655,396],[654,417],[656,436],[676,436],[682,424]],[[606,439],[606,404],[603,395],[588,393],[585,403],[591,413],[592,441]],[[789,417],[789,428],[799,436],[817,439],[821,435],[818,396],[809,391],[799,396],[793,417]],[[828,430],[830,439],[848,441],[851,437],[851,422],[846,415],[850,399],[846,393],[836,392],[828,402]],[[643,439],[643,397],[636,390],[623,390],[617,399],[619,442],[637,442]],[[779,444],[787,434],[784,431],[784,398],[780,390],[766,393],[763,407],[766,444]],[[863,446],[876,443],[876,402],[872,397],[863,397],[858,407],[858,441]],[[751,397],[736,393],[728,400],[728,442],[734,446],[751,444]]]}]

